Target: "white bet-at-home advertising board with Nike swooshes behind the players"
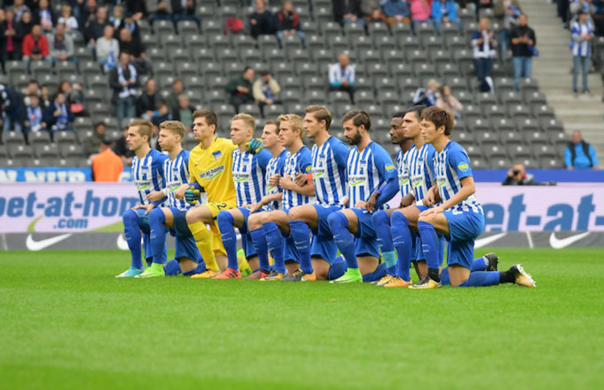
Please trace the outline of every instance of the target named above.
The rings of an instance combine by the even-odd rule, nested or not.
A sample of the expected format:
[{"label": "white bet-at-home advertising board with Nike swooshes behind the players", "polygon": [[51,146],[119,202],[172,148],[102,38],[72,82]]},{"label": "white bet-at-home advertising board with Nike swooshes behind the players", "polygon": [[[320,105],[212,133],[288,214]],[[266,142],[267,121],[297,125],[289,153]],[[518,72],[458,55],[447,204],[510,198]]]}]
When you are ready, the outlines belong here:
[{"label": "white bet-at-home advertising board with Nike swooshes behind the players", "polygon": [[[604,247],[604,183],[477,183],[477,197],[486,217],[477,247]],[[125,250],[121,215],[137,203],[132,183],[1,184],[0,248]]]}]

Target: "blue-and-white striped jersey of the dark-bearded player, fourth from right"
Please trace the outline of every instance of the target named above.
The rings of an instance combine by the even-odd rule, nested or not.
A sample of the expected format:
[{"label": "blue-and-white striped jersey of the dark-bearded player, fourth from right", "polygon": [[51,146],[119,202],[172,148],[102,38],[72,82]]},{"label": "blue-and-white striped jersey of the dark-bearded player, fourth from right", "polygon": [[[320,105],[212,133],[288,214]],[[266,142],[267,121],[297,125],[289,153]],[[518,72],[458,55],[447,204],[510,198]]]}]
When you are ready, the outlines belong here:
[{"label": "blue-and-white striped jersey of the dark-bearded player, fourth from right", "polygon": [[[386,149],[373,141],[361,152],[353,146],[348,156],[349,206],[355,207],[356,203],[367,201],[371,193],[389,178],[396,178],[396,169]],[[388,205],[378,208],[384,207]]]}]

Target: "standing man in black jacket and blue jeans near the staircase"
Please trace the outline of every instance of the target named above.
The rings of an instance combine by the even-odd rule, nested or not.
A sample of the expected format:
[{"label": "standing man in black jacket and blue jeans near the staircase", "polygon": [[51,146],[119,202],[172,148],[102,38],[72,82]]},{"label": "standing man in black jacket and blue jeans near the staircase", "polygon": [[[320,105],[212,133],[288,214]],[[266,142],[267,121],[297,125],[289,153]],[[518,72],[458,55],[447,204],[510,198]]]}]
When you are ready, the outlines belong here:
[{"label": "standing man in black jacket and blue jeans near the staircase", "polygon": [[510,31],[510,42],[512,43],[514,66],[514,89],[518,91],[520,78],[530,78],[532,75],[533,54],[537,44],[535,31],[528,27],[526,14],[518,17],[518,26]]}]

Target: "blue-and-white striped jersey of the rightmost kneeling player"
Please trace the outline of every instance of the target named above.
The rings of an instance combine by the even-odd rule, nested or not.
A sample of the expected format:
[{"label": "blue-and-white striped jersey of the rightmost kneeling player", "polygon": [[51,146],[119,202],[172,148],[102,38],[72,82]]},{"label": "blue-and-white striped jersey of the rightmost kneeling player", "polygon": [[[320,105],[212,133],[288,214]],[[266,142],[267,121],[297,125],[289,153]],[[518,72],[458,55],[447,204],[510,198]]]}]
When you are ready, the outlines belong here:
[{"label": "blue-and-white striped jersey of the rightmost kneeling player", "polygon": [[[443,202],[448,201],[461,189],[461,179],[472,176],[466,151],[463,146],[453,141],[449,141],[442,152],[434,155],[434,171]],[[472,194],[446,211],[455,214],[470,211],[483,213],[483,207]]]}]

